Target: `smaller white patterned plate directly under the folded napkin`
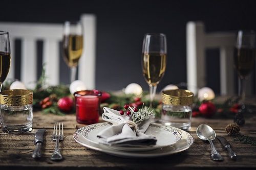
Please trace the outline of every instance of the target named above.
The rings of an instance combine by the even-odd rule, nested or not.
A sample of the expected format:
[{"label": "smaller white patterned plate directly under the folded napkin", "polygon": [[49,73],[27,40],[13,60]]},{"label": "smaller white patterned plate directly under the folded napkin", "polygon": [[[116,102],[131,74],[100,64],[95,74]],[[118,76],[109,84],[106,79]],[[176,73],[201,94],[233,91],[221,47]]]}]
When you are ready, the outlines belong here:
[{"label": "smaller white patterned plate directly under the folded napkin", "polygon": [[[99,143],[97,134],[110,126],[112,126],[112,124],[108,123],[89,125],[83,130],[82,135],[84,139],[92,143],[101,144]],[[181,134],[179,134],[179,132],[177,132],[175,129],[170,129],[167,126],[160,124],[150,124],[150,126],[145,131],[145,134],[155,136],[157,138],[156,145],[148,147],[117,147],[115,145],[112,145],[110,147],[108,145],[108,147],[121,151],[149,151],[157,148],[166,147],[168,145],[176,143],[181,139]]]}]

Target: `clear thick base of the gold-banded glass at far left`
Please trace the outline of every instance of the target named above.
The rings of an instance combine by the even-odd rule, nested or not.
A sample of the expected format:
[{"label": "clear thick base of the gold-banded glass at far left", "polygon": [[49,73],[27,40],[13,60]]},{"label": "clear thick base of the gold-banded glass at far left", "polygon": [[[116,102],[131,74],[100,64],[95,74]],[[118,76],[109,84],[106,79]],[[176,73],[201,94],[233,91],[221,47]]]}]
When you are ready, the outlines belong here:
[{"label": "clear thick base of the gold-banded glass at far left", "polygon": [[19,125],[19,126],[6,126],[2,124],[2,131],[4,133],[11,134],[19,134],[32,131],[32,122],[27,125]]}]

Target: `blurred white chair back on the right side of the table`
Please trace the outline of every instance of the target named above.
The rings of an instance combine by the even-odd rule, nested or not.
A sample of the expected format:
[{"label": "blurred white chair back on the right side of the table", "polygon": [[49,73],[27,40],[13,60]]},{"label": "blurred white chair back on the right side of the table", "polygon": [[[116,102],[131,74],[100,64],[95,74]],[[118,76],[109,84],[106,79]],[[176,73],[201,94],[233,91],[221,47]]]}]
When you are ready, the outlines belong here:
[{"label": "blurred white chair back on the right side of the table", "polygon": [[[202,22],[190,21],[186,25],[187,85],[197,93],[206,86],[205,49],[220,48],[220,89],[222,95],[234,94],[233,49],[234,32],[205,33]],[[251,83],[251,79],[247,83]],[[251,89],[247,88],[246,93]]]}]

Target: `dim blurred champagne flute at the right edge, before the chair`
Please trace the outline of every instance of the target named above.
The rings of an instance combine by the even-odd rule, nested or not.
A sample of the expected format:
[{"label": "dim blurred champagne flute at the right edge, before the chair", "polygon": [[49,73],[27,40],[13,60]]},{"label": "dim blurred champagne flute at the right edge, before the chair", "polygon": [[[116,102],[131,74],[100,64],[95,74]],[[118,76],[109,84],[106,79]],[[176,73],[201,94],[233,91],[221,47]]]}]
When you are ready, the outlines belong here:
[{"label": "dim blurred champagne flute at the right edge, before the chair", "polygon": [[239,96],[242,103],[245,100],[246,78],[253,69],[256,57],[255,32],[239,31],[237,43],[234,48],[234,68],[237,69],[239,76]]}]

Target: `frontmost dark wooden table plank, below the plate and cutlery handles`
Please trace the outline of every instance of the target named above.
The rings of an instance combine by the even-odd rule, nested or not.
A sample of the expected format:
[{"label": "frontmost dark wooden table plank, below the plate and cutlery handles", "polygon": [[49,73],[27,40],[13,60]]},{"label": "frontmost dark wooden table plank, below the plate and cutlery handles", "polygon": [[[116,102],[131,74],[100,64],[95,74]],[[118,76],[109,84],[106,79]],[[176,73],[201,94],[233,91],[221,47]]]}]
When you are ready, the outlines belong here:
[{"label": "frontmost dark wooden table plank, below the plate and cutlery handles", "polygon": [[52,154],[49,150],[42,152],[40,160],[31,158],[31,150],[0,150],[0,163],[2,166],[13,165],[15,166],[40,166],[40,167],[56,167],[62,168],[80,167],[97,169],[113,168],[113,169],[175,169],[180,167],[218,167],[218,168],[243,168],[243,167],[256,167],[255,154],[254,155],[239,155],[237,161],[230,160],[225,153],[221,153],[224,157],[223,162],[212,161],[209,154],[196,154],[195,152],[185,151],[179,154],[150,159],[126,159],[119,158],[104,153],[95,151],[62,151],[65,158],[61,162],[54,162],[50,160]]}]

